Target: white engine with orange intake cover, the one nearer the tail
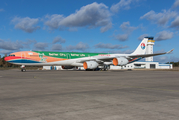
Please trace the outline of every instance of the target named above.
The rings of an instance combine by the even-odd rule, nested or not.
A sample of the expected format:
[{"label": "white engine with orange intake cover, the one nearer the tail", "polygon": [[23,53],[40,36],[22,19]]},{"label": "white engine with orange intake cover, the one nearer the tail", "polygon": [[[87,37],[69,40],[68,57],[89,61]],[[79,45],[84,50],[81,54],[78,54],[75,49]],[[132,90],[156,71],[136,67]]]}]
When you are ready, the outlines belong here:
[{"label": "white engine with orange intake cover, the one nearer the tail", "polygon": [[128,63],[129,63],[129,60],[126,59],[126,58],[124,58],[124,57],[119,57],[119,58],[114,58],[114,59],[113,59],[113,64],[114,64],[115,66],[117,66],[117,65],[125,66],[125,65],[127,65]]}]

